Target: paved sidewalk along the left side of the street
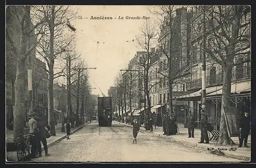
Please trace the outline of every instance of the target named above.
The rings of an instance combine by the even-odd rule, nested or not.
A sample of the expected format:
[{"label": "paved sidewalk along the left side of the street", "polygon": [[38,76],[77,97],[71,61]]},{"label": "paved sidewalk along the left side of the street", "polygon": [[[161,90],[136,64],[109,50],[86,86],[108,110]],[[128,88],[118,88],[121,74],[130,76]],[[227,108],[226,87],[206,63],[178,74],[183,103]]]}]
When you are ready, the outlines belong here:
[{"label": "paved sidewalk along the left side of the street", "polygon": [[[80,130],[90,122],[87,122],[86,124],[76,127],[76,128],[71,128],[71,134],[75,133],[76,131]],[[56,127],[57,126],[57,127]],[[6,137],[12,138],[13,134],[11,134],[12,130],[8,130]],[[66,138],[66,132],[61,132],[61,124],[55,125],[55,131],[56,131],[56,136],[51,136],[50,138],[47,139],[47,146],[48,148],[53,146],[54,144],[58,143],[62,139]],[[12,131],[13,133],[13,131]],[[41,143],[42,146],[42,143]],[[44,151],[44,146],[42,146],[42,151]],[[6,156],[8,158],[8,161],[16,161],[17,160],[17,154],[16,152],[7,152]],[[7,161],[7,160],[6,160]]]}]

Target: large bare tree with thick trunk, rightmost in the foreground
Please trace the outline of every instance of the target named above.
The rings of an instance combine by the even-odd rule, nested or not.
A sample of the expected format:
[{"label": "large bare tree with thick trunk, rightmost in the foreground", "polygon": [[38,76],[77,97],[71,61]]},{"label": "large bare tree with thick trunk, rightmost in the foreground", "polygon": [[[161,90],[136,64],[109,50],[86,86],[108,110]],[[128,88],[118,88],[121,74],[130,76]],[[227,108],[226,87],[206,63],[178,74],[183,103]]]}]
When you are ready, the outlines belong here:
[{"label": "large bare tree with thick trunk, rightmost in the foreground", "polygon": [[[223,69],[223,91],[219,145],[229,145],[230,139],[224,108],[230,106],[232,68],[250,62],[251,21],[249,6],[198,7],[206,16],[207,47],[205,52]],[[246,18],[247,16],[247,18]]]}]

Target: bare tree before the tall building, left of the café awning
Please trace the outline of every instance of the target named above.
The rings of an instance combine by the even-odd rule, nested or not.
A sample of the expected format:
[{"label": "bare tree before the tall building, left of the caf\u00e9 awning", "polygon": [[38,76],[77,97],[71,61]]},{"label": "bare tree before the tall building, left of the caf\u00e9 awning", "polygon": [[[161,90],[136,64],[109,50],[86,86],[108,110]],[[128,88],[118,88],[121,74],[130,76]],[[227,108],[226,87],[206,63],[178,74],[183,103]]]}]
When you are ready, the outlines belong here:
[{"label": "bare tree before the tall building, left of the caf\u00e9 awning", "polygon": [[[183,10],[183,11],[182,11]],[[161,6],[156,14],[164,16],[159,34],[159,79],[160,88],[167,79],[169,92],[168,106],[173,109],[172,92],[174,84],[183,80],[189,73],[189,61],[187,60],[187,15],[185,8],[177,6]],[[163,56],[163,57],[162,57]],[[165,61],[165,58],[167,61]]]}]

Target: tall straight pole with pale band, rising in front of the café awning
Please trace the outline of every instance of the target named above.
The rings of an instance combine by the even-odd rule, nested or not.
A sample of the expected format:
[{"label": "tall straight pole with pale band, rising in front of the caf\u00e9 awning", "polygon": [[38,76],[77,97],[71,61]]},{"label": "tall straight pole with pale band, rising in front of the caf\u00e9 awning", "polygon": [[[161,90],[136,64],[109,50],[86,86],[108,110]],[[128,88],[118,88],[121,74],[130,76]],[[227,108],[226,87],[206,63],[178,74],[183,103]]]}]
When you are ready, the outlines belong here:
[{"label": "tall straight pole with pale band, rising in front of the caf\u00e9 awning", "polygon": [[202,59],[202,112],[205,112],[206,101],[206,62],[205,62],[205,49],[206,49],[206,27],[205,27],[205,6],[203,6],[203,59]]}]

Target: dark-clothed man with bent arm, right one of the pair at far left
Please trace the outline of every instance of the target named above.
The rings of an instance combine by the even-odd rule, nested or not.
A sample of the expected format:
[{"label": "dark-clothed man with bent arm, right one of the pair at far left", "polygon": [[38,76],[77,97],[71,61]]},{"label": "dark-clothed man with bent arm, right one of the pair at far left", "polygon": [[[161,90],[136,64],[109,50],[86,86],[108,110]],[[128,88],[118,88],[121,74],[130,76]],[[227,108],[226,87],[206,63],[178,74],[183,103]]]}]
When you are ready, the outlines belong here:
[{"label": "dark-clothed man with bent arm, right one of the pair at far left", "polygon": [[[46,128],[48,130],[46,130]],[[50,137],[49,134],[49,130],[51,129],[50,126],[44,122],[42,122],[41,118],[37,118],[37,128],[39,129],[39,145],[38,145],[38,153],[39,153],[39,157],[42,156],[42,149],[41,149],[41,142],[42,145],[44,146],[44,150],[45,150],[45,156],[50,156],[51,154],[48,153],[48,147],[47,147],[47,139]]]}]

